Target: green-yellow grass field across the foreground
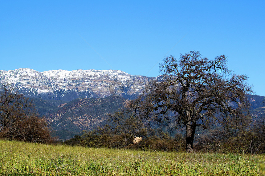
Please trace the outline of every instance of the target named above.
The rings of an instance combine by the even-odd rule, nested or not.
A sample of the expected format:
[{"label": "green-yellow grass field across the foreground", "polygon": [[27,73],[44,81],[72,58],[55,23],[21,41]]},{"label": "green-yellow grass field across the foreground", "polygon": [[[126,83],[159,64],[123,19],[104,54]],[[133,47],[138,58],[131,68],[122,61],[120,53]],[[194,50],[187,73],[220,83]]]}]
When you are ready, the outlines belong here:
[{"label": "green-yellow grass field across the foreground", "polygon": [[0,140],[2,175],[265,175],[264,164],[264,154],[187,154]]}]

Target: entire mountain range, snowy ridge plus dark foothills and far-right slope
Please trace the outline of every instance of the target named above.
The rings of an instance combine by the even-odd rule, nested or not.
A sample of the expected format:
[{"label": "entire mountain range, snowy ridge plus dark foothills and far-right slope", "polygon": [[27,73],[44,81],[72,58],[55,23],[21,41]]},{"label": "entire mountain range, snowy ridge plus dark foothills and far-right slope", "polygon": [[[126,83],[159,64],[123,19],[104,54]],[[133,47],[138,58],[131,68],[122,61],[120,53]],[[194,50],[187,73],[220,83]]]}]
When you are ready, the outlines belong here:
[{"label": "entire mountain range, snowy ridge plus dark foothills and far-right slope", "polygon": [[[132,76],[120,70],[0,70],[0,83],[10,84],[33,99],[60,139],[104,126],[109,113],[124,107],[153,80],[161,80],[161,76]],[[265,97],[248,98],[253,119],[264,118]]]}]

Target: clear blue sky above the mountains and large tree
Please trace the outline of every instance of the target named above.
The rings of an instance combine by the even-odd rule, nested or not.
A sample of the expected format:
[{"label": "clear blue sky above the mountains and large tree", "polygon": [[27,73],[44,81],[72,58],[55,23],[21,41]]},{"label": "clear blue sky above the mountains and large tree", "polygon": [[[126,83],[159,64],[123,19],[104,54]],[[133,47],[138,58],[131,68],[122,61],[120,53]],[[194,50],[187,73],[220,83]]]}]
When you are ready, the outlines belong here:
[{"label": "clear blue sky above the mountains and large tree", "polygon": [[264,9],[265,1],[1,1],[0,70],[153,77],[164,56],[197,50],[209,59],[226,55],[228,67],[265,96]]}]

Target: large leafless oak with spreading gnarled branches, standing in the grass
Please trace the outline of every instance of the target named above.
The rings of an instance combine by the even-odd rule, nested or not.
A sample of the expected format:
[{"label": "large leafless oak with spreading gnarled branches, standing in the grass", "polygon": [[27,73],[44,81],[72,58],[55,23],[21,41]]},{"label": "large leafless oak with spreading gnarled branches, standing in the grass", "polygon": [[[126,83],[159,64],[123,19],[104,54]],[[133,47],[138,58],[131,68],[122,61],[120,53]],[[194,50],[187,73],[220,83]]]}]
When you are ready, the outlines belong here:
[{"label": "large leafless oak with spreading gnarled branches, standing in the grass", "polygon": [[224,55],[208,60],[190,51],[177,60],[165,57],[162,81],[155,81],[132,101],[135,115],[148,122],[183,125],[186,152],[193,151],[196,127],[219,123],[225,129],[239,129],[249,120],[246,95],[252,93],[246,75],[233,74]]}]

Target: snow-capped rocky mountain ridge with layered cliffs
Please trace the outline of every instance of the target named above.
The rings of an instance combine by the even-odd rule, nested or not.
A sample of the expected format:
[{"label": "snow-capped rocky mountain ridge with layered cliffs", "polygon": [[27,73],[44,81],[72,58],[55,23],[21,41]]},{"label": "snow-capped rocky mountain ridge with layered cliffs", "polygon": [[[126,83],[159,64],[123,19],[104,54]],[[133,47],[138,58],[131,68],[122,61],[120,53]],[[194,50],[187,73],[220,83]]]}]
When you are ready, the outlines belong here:
[{"label": "snow-capped rocky mountain ridge with layered cliffs", "polygon": [[79,97],[102,98],[112,94],[132,99],[154,79],[132,76],[120,70],[0,70],[0,83],[10,84],[26,96],[68,101]]}]

